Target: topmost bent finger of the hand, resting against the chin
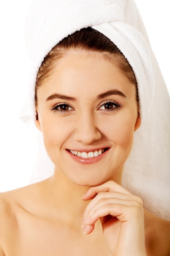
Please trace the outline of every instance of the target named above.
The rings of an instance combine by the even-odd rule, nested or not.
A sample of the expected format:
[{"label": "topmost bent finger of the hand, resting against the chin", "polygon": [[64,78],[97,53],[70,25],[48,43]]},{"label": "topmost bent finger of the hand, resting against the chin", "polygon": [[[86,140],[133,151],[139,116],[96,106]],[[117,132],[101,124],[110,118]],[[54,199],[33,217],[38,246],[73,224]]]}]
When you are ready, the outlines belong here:
[{"label": "topmost bent finger of the hand, resting against the chin", "polygon": [[99,192],[119,192],[127,195],[132,195],[129,191],[127,191],[124,187],[120,186],[114,181],[104,182],[99,186],[92,186],[84,195],[82,195],[82,200],[90,200],[94,198]]}]

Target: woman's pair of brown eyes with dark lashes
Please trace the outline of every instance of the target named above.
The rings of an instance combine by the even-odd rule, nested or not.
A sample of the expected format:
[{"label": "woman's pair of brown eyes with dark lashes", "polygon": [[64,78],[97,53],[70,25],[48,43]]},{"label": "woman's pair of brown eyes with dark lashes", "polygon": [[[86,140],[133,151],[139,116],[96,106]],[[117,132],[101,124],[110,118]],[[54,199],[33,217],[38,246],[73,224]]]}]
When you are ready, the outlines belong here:
[{"label": "woman's pair of brown eyes with dark lashes", "polygon": [[[97,110],[103,111],[104,113],[112,113],[115,112],[116,110],[119,110],[123,105],[118,103],[117,101],[113,100],[106,100],[102,102]],[[57,112],[58,114],[68,114],[72,111],[74,111],[74,108],[71,107],[68,103],[58,103],[56,104],[53,108],[51,108],[51,111]]]}]

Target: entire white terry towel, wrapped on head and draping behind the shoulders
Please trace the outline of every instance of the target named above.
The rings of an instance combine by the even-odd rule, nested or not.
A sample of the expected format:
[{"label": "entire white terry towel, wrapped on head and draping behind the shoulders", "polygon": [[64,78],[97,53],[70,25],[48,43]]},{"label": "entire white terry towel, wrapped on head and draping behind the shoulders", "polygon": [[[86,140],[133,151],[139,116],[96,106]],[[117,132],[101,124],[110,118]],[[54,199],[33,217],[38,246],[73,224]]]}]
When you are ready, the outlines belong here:
[{"label": "entire white terry towel, wrapped on head and draping behind the shoulders", "polygon": [[[26,22],[26,41],[32,62],[33,115],[35,79],[44,57],[60,40],[84,27],[92,27],[113,41],[137,78],[142,126],[135,132],[123,185],[141,196],[147,209],[170,219],[170,99],[133,0],[33,2]],[[42,180],[53,172],[41,143],[42,138],[38,170],[33,173],[31,182]]]}]

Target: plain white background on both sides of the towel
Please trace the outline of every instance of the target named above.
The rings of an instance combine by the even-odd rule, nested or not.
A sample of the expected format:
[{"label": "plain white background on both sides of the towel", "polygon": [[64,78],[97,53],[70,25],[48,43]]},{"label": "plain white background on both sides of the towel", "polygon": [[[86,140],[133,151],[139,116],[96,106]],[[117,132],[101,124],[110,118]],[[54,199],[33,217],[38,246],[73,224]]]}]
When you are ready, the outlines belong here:
[{"label": "plain white background on both sides of the towel", "polygon": [[[3,3],[2,3],[3,2]],[[25,186],[35,164],[33,135],[19,119],[30,72],[24,22],[32,0],[0,4],[0,191]],[[169,8],[167,0],[136,0],[152,49],[170,91]]]}]

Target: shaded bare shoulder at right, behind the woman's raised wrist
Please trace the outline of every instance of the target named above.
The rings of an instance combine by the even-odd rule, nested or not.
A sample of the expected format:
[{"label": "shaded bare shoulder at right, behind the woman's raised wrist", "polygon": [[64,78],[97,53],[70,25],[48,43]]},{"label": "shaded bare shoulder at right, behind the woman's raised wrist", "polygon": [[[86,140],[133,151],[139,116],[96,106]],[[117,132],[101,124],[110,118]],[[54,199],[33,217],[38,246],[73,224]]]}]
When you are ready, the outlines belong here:
[{"label": "shaded bare shoulder at right, behind the woman's raised wrist", "polygon": [[145,211],[145,236],[148,256],[170,256],[170,221]]}]

